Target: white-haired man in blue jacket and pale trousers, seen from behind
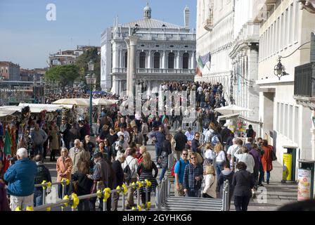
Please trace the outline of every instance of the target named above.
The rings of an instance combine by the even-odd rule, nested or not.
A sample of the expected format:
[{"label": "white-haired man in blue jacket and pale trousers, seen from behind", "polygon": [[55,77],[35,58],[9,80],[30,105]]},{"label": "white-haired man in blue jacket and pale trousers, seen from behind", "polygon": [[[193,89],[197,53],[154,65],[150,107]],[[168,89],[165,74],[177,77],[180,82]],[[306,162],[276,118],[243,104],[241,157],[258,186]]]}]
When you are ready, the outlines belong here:
[{"label": "white-haired man in blue jacket and pale trousers, seen from behind", "polygon": [[11,210],[20,207],[33,207],[34,200],[34,179],[37,174],[37,165],[27,157],[27,150],[19,148],[17,153],[18,161],[8,167],[4,180],[8,182],[8,194],[10,196]]}]

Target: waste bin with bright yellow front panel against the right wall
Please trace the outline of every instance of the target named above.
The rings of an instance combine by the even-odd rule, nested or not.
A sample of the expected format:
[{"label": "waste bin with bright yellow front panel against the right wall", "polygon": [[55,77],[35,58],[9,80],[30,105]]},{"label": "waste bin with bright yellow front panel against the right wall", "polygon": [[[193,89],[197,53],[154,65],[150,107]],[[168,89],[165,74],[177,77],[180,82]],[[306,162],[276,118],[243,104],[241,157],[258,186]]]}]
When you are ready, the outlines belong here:
[{"label": "waste bin with bright yellow front panel against the right wall", "polygon": [[283,176],[281,182],[295,182],[297,146],[282,147],[286,149],[286,153],[283,153]]}]

